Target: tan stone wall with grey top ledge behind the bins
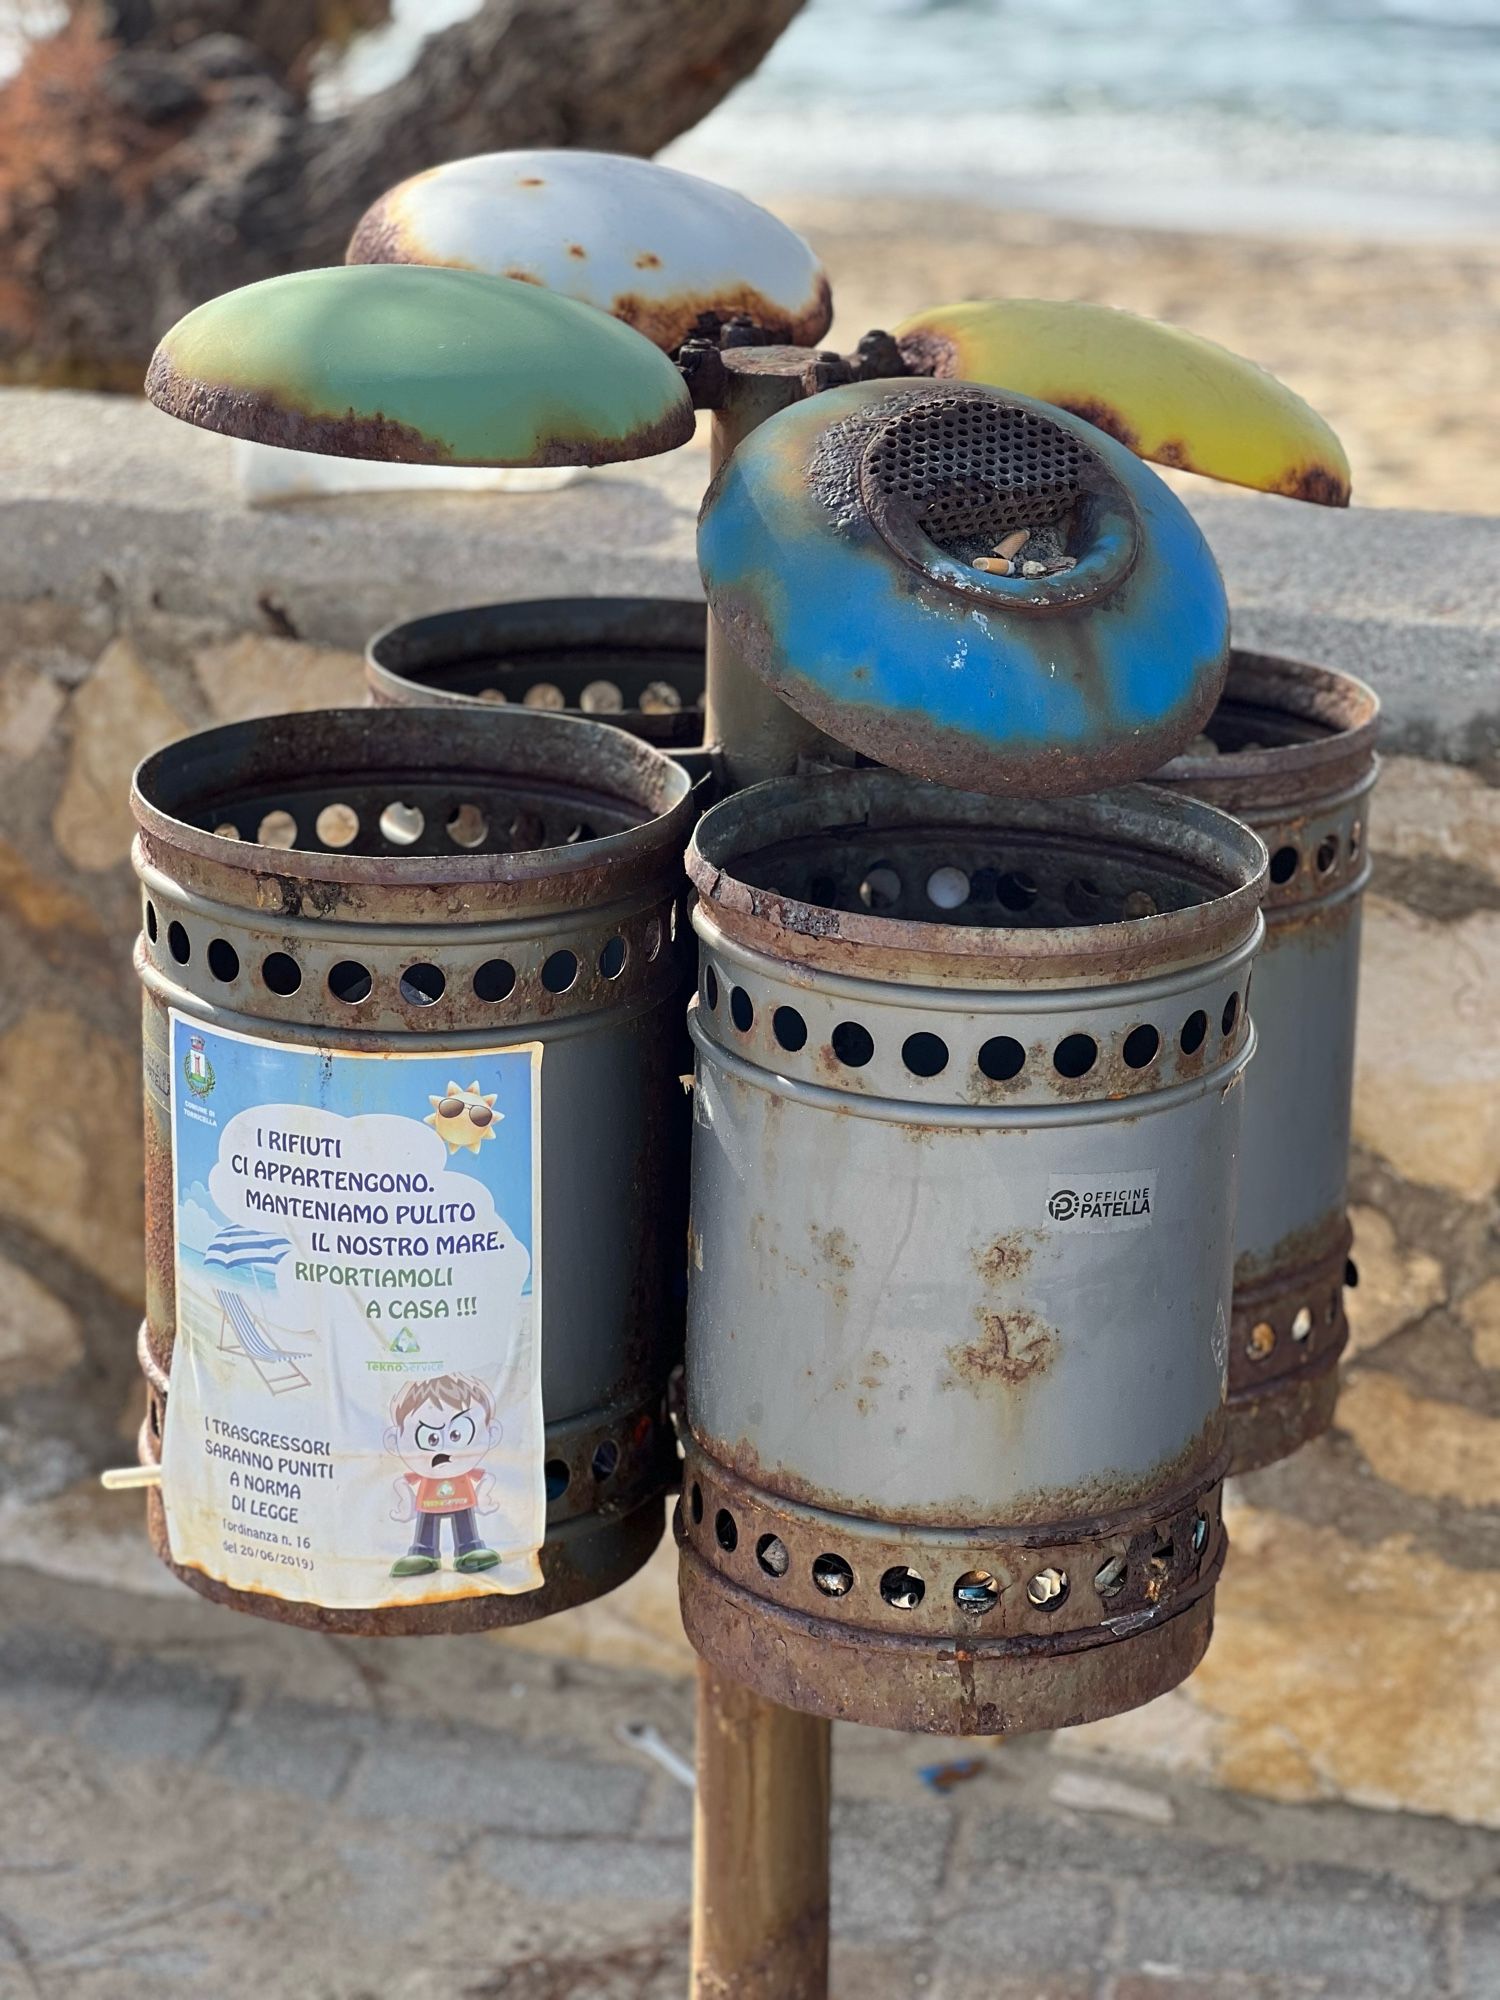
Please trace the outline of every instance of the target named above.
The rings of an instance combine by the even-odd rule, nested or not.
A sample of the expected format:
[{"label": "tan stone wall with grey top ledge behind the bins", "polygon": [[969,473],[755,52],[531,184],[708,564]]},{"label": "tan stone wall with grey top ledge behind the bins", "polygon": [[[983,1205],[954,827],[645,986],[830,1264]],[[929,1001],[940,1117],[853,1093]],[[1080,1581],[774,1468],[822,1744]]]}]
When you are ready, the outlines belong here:
[{"label": "tan stone wall with grey top ledge behind the bins", "polygon": [[[222,440],[0,394],[0,1524],[12,1560],[174,1590],[128,1456],[140,1316],[126,792],[214,720],[360,700],[392,618],[694,594],[704,456],[526,498],[252,514]],[[1500,1824],[1500,526],[1210,496],[1246,644],[1376,684],[1352,1358],[1332,1436],[1240,1482],[1186,1688],[1074,1748],[1282,1800]],[[1486,596],[1488,592],[1488,596]],[[506,1644],[684,1670],[674,1564]]]}]

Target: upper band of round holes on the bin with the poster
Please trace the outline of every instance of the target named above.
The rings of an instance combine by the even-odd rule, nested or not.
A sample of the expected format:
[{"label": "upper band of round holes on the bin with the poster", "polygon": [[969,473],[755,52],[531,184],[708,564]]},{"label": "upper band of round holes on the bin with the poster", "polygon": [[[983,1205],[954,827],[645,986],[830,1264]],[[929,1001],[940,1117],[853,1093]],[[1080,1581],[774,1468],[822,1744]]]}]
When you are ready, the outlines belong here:
[{"label": "upper band of round holes on the bin with the poster", "polygon": [[[672,916],[676,910],[672,910]],[[630,926],[610,934],[588,958],[572,948],[548,952],[534,974],[522,972],[508,958],[486,958],[480,966],[450,972],[432,960],[412,960],[394,972],[380,972],[358,958],[340,958],[328,968],[328,996],[346,1008],[358,1008],[400,1000],[408,1008],[436,1006],[444,996],[460,1000],[472,996],[486,1006],[502,1006],[514,1000],[518,1008],[536,1002],[540,994],[552,998],[578,990],[606,990],[620,982],[632,964],[650,966],[660,954],[674,924],[660,916],[646,918],[640,926]],[[160,918],[154,902],[146,902],[146,938],[152,954],[160,958]],[[166,950],[174,964],[194,962],[194,940],[180,920],[166,926]],[[210,936],[202,944],[204,964],[220,986],[232,986],[248,970],[252,984],[286,1000],[300,992],[306,980],[302,962],[286,950],[266,952],[250,968],[228,938]]]}]

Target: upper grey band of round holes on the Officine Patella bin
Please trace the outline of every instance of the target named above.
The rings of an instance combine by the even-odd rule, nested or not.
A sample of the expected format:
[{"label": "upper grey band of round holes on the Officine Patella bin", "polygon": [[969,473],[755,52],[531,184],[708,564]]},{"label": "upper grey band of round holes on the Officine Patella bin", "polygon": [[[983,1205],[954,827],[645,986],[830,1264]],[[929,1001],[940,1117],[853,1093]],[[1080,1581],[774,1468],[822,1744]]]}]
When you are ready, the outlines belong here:
[{"label": "upper grey band of round holes on the Officine Patella bin", "polygon": [[[1192,1008],[1176,1024],[1136,1022],[1114,1034],[1104,1046],[1096,1036],[1078,1030],[1058,1036],[1050,1048],[1028,1048],[1010,1034],[994,1034],[956,1056],[948,1036],[918,1028],[902,1038],[900,1060],[908,1076],[924,1082],[952,1072],[956,1080],[966,1074],[970,1082],[984,1078],[990,1084],[1046,1082],[1056,1088],[1058,1082],[1076,1084],[1092,1076],[1108,1082],[1112,1090],[1152,1088],[1162,1052],[1172,1044],[1194,1072],[1200,1068],[1198,1058],[1210,1046],[1214,1030],[1220,1054],[1228,1054],[1240,1028],[1248,990],[1248,982],[1244,994],[1236,986],[1212,1022],[1204,1008]],[[718,1014],[724,982],[712,964],[704,964],[700,996],[702,1006],[710,1014]],[[750,992],[740,984],[730,986],[728,1028],[732,1036],[726,1036],[728,1046],[752,1036],[756,1020],[758,1010]],[[804,1054],[810,1042],[804,1012],[792,1004],[772,1008],[770,1040],[788,1056]],[[842,1070],[864,1070],[874,1062],[876,1038],[862,1022],[840,1020],[822,1050]],[[814,1048],[814,1058],[822,1050]]]}]

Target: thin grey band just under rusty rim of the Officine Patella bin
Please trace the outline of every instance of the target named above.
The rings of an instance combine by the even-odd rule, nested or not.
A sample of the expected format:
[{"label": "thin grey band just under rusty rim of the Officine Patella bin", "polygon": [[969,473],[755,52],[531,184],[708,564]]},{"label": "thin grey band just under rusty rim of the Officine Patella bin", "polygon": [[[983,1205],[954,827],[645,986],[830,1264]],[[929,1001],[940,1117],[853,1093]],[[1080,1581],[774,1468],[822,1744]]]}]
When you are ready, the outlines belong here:
[{"label": "thin grey band just under rusty rim of the Officine Patella bin", "polygon": [[[1266,914],[1268,920],[1268,914]],[[934,1014],[1054,1014],[1060,1008],[1138,1008],[1156,1006],[1158,1000],[1178,1000],[1196,992],[1204,982],[1204,964],[1182,966],[1176,972],[1160,972],[1140,980],[1094,980],[1088,986],[1046,986],[1044,996],[1028,986],[916,986],[906,984],[892,992],[890,980],[862,980],[852,972],[820,972],[808,966],[776,958],[754,944],[746,944],[732,932],[722,930],[702,902],[694,902],[692,928],[704,946],[722,958],[732,960],[764,980],[782,980],[806,992],[828,994],[834,1000],[848,1000],[864,1008],[928,1008]],[[1230,978],[1260,956],[1262,928],[1256,924],[1242,944],[1222,958],[1212,960],[1214,978]],[[984,966],[974,964],[970,978],[982,976]]]}]

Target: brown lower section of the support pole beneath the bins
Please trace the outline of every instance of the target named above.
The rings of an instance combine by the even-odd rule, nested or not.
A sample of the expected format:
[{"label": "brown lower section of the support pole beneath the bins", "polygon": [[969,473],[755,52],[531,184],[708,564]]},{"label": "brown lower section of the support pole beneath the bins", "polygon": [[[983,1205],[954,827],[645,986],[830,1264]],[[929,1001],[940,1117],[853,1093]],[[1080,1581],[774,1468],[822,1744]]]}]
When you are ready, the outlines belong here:
[{"label": "brown lower section of the support pole beneath the bins", "polygon": [[692,2000],[826,2000],[832,1724],[698,1662]]}]

